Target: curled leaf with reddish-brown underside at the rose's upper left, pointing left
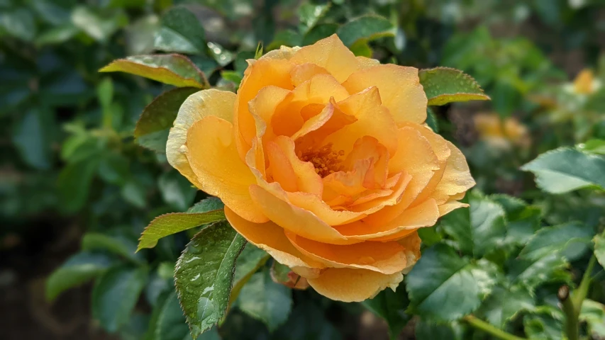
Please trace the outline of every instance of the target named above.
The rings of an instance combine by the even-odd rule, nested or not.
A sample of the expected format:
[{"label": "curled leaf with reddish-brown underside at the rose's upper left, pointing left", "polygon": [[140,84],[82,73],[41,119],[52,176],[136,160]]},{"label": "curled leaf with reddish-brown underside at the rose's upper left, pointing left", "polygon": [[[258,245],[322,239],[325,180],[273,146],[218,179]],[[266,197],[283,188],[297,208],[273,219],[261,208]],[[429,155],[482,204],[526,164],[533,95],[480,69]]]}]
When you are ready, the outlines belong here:
[{"label": "curled leaf with reddish-brown underside at the rose's upper left, pointing left", "polygon": [[136,55],[113,60],[99,72],[126,72],[177,87],[207,87],[204,74],[184,55]]}]

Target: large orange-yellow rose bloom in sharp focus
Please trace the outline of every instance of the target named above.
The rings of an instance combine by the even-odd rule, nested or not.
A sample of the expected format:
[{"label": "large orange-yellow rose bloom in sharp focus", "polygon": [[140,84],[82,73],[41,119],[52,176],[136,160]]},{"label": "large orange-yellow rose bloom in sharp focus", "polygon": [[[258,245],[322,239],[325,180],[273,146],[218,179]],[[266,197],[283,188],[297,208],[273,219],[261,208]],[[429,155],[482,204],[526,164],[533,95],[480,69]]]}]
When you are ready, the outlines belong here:
[{"label": "large orange-yellow rose bloom in sharp focus", "polygon": [[336,35],[248,64],[237,94],[187,98],[168,162],[321,295],[394,290],[420,257],[416,230],[465,207],[474,185],[424,124],[418,69],[355,57]]}]

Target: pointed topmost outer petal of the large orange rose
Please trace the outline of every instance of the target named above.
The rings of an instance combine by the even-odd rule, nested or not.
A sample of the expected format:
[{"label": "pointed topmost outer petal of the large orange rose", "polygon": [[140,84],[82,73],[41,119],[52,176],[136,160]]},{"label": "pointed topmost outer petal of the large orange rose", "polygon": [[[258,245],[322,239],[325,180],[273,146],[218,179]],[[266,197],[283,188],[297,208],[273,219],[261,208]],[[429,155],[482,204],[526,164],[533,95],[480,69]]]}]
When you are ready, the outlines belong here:
[{"label": "pointed topmost outer petal of the large orange rose", "polygon": [[340,83],[359,68],[357,58],[355,58],[353,52],[343,45],[338,35],[335,34],[319,40],[313,45],[302,47],[294,53],[290,61],[295,64],[310,62],[323,67]]}]

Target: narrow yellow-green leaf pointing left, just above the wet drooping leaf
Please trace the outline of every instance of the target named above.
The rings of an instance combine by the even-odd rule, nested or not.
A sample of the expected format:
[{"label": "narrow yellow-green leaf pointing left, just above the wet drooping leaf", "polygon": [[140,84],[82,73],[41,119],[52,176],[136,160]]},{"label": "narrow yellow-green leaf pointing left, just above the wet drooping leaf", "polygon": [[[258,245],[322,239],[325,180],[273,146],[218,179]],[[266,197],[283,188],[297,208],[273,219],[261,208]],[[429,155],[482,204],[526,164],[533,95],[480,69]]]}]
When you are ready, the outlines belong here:
[{"label": "narrow yellow-green leaf pointing left, just above the wet drooping leaf", "polygon": [[225,212],[222,209],[207,212],[173,212],[155,217],[143,231],[137,250],[153,248],[162,237],[221,220],[225,220]]}]

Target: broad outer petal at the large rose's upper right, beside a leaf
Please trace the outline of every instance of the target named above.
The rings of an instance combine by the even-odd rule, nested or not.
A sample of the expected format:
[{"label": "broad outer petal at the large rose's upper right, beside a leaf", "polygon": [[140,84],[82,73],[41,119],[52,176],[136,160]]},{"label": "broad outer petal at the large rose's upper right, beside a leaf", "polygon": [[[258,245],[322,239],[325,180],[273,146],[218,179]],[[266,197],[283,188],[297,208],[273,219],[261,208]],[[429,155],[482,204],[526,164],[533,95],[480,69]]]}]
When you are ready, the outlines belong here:
[{"label": "broad outer petal at the large rose's upper right, beside a leaf", "polygon": [[377,86],[382,104],[395,121],[424,123],[426,94],[418,79],[418,69],[394,64],[377,65],[355,72],[343,83],[351,94]]}]

